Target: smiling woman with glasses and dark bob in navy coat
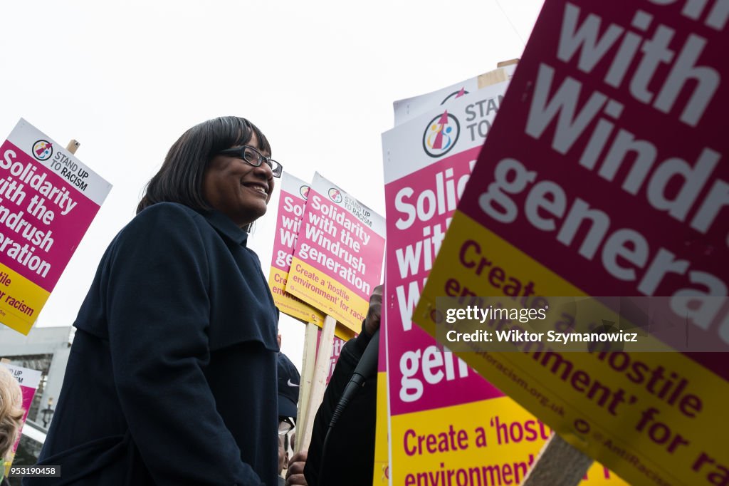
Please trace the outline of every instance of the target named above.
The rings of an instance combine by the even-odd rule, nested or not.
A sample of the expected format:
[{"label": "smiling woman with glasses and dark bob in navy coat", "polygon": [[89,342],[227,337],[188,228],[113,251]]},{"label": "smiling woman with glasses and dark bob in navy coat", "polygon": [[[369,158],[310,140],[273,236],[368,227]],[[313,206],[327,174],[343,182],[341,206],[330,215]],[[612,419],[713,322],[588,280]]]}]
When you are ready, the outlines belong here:
[{"label": "smiling woman with glasses and dark bob in navy coat", "polygon": [[[278,310],[247,229],[281,164],[248,120],[185,132],[106,250],[25,485],[276,485]],[[47,481],[47,482],[46,482]]]}]

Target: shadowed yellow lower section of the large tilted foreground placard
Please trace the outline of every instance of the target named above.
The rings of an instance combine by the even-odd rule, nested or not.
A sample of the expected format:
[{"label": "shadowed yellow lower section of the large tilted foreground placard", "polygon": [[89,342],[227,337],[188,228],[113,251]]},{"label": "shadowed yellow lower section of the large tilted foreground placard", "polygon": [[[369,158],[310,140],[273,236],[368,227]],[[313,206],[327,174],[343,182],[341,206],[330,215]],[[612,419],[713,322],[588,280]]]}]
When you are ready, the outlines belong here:
[{"label": "shadowed yellow lower section of the large tilted foreground placard", "polygon": [[[542,296],[585,295],[456,212],[413,317],[430,333],[435,298],[454,293],[456,284],[476,296],[494,295],[488,277],[461,262],[461,247],[472,241],[483,258],[515,279],[533,282]],[[457,354],[574,447],[631,483],[729,483],[729,384],[681,353],[555,352],[541,346]]]}]

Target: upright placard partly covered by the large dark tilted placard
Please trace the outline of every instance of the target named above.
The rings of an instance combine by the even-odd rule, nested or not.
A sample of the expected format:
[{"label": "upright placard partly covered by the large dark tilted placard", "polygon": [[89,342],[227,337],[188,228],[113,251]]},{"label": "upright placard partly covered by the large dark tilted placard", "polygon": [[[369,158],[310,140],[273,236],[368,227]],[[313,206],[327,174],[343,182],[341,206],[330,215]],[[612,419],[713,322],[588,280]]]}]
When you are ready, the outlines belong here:
[{"label": "upright placard partly covered by the large dark tilted placard", "polygon": [[[506,89],[482,88],[383,134],[389,305],[378,393],[389,395],[391,462],[375,465],[375,484],[384,474],[395,485],[516,484],[551,433],[412,322]],[[586,484],[622,482],[596,464]]]}]

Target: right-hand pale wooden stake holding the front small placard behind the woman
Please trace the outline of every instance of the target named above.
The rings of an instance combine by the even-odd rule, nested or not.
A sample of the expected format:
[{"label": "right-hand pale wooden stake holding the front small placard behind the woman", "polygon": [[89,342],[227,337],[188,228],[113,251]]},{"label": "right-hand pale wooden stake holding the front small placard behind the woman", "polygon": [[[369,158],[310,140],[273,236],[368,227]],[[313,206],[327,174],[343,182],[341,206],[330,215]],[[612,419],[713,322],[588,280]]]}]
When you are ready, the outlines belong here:
[{"label": "right-hand pale wooden stake holding the front small placard behind the woman", "polygon": [[337,321],[334,317],[327,315],[324,317],[324,327],[321,328],[321,339],[319,339],[319,352],[316,353],[316,366],[314,368],[313,379],[311,380],[311,390],[309,391],[308,406],[306,414],[303,417],[301,428],[296,433],[297,451],[308,450],[309,442],[311,442],[311,431],[313,431],[314,417],[319,410],[322,398],[324,398],[324,390],[327,387],[327,375],[329,374],[330,360],[332,359],[332,344],[334,341],[334,330]]}]

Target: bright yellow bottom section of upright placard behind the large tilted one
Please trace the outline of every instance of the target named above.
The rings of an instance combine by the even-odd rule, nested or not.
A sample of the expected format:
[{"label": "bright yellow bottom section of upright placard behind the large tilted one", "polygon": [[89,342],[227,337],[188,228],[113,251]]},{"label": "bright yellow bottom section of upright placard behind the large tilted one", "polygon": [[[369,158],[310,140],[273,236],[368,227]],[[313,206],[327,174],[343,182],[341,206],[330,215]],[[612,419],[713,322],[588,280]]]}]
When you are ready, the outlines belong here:
[{"label": "bright yellow bottom section of upright placard behind the large tilted one", "polygon": [[[392,423],[394,485],[517,485],[550,428],[508,397],[412,414]],[[584,485],[625,485],[598,463]]]}]

